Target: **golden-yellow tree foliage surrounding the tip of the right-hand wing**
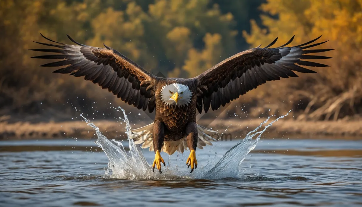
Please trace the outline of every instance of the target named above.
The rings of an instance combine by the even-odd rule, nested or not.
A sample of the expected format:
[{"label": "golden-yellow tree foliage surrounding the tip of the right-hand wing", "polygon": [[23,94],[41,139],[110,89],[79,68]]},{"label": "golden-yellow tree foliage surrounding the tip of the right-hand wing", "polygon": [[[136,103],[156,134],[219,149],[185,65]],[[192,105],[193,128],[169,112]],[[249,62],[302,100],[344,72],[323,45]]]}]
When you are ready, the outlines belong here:
[{"label": "golden-yellow tree foliage surrounding the tip of the right-hand wing", "polygon": [[331,39],[323,48],[336,49],[321,54],[334,59],[321,61],[332,67],[316,69],[319,75],[300,75],[296,80],[278,81],[265,88],[273,98],[277,96],[273,90],[289,94],[288,88],[300,87],[308,79],[316,80],[311,81],[308,89],[301,90],[311,90],[308,92],[311,94],[316,94],[318,90],[314,89],[320,86],[329,87],[329,90],[336,93],[349,90],[353,85],[362,87],[361,82],[356,81],[362,78],[361,0],[268,0],[261,8],[264,12],[278,17],[262,16],[262,24],[267,29],[261,29],[254,21],[251,22],[251,33],[244,31],[243,35],[252,46],[266,45],[279,37],[275,45],[278,46],[280,42],[287,42],[294,34],[296,36],[291,46],[298,45],[323,34],[321,41]]}]

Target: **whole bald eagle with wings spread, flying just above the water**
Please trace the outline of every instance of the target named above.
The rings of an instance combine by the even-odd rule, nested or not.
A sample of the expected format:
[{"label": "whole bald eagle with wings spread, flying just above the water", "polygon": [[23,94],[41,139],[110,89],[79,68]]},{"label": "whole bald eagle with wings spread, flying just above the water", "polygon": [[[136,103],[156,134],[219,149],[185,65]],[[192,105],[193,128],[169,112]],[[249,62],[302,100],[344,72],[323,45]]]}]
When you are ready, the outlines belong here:
[{"label": "whole bald eagle with wings spread, flying just above the water", "polygon": [[286,47],[294,36],[284,45],[269,48],[256,47],[231,56],[216,64],[197,77],[190,79],[157,77],[146,71],[117,50],[106,45],[105,48],[92,47],[74,41],[76,45],[41,43],[52,48],[33,49],[55,54],[35,56],[40,59],[60,59],[57,62],[43,64],[42,67],[62,67],[54,73],[70,73],[73,76],[84,76],[84,80],[92,81],[103,89],[107,89],[122,101],[150,113],[156,109],[153,123],[132,130],[132,138],[142,148],[150,148],[155,152],[152,170],[157,167],[161,171],[161,163],[165,165],[160,152],[172,155],[176,150],[180,153],[189,148],[190,155],[186,165],[191,173],[197,168],[196,148],[212,145],[215,141],[208,130],[196,124],[196,111],[219,109],[249,90],[257,88],[266,81],[280,78],[298,77],[293,71],[316,73],[303,66],[328,67],[325,64],[306,61],[311,59],[328,59],[327,56],[307,55],[332,49],[307,48],[325,42],[315,42],[320,37],[304,44]]}]

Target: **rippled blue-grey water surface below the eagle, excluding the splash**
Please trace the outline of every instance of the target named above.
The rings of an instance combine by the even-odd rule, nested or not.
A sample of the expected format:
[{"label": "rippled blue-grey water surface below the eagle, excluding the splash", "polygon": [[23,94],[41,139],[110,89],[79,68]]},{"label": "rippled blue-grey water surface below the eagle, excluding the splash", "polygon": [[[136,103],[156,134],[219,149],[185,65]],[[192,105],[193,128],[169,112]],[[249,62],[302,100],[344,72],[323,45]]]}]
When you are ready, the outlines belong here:
[{"label": "rippled blue-grey water surface below the eagle, excluding the splash", "polygon": [[[176,165],[186,172],[188,154],[163,155],[164,174],[149,180],[109,178],[108,158],[94,141],[1,141],[0,206],[362,205],[361,141],[261,139],[240,178],[166,178]],[[239,141],[197,150],[194,176]],[[151,163],[154,153],[142,152]]]}]

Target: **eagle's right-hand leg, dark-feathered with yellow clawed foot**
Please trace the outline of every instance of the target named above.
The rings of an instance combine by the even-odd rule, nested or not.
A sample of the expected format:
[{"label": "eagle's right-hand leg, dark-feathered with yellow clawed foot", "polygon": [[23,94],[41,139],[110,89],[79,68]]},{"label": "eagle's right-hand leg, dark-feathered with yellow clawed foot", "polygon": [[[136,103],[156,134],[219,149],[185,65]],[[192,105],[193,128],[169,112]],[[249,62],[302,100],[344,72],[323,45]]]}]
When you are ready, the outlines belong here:
[{"label": "eagle's right-hand leg, dark-feathered with yellow clawed foot", "polygon": [[[197,160],[196,160],[196,152],[195,149],[197,147],[197,125],[196,122],[190,122],[186,126],[186,141],[188,144],[188,147],[190,149],[190,155],[189,158],[186,161],[187,169],[191,166],[191,172],[194,171],[194,169],[197,168]],[[194,168],[195,166],[195,168]]]}]

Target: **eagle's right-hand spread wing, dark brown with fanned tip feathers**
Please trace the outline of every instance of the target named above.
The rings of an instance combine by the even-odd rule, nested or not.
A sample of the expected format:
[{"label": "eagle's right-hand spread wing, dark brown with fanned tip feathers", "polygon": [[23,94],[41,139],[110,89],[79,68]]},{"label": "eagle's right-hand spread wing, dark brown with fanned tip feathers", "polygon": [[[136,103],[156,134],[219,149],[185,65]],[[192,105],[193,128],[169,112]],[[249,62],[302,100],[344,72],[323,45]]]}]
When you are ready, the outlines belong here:
[{"label": "eagle's right-hand spread wing, dark brown with fanned tip feathers", "polygon": [[264,48],[259,46],[240,52],[195,77],[198,79],[197,109],[199,113],[202,112],[202,108],[207,112],[210,106],[212,110],[218,109],[221,105],[225,106],[230,101],[239,98],[240,95],[266,83],[266,81],[280,80],[281,77],[298,77],[293,71],[316,73],[303,66],[328,67],[324,64],[305,60],[330,58],[306,55],[333,50],[304,50],[327,42],[309,45],[320,37],[302,45],[285,47],[293,41],[293,36],[284,45],[269,48],[277,42],[278,38],[276,38]]}]

